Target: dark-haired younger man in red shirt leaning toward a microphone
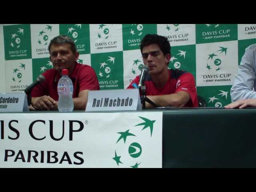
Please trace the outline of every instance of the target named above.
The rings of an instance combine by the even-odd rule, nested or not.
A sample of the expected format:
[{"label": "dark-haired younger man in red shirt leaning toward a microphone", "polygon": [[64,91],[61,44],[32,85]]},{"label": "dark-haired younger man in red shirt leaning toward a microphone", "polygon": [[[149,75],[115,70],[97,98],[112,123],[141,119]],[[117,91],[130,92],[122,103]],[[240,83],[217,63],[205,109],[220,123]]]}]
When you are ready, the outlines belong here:
[{"label": "dark-haired younger man in red shirt leaning toward a microphone", "polygon": [[[168,69],[170,62],[170,43],[164,36],[147,34],[141,44],[140,51],[144,65],[149,72],[144,80],[146,96],[156,106],[198,107],[196,84],[191,73],[178,69]],[[138,84],[140,76],[130,83]],[[146,102],[146,108],[153,107]]]}]

